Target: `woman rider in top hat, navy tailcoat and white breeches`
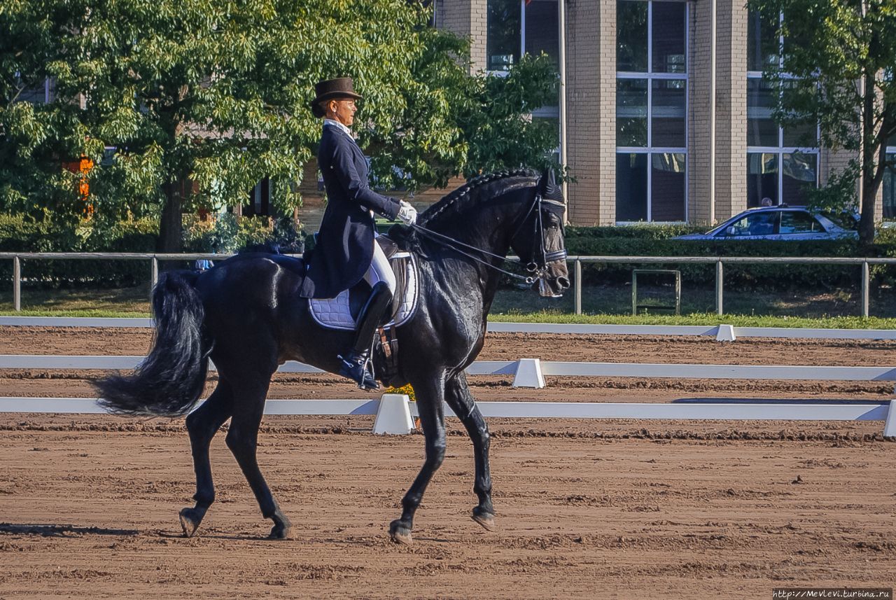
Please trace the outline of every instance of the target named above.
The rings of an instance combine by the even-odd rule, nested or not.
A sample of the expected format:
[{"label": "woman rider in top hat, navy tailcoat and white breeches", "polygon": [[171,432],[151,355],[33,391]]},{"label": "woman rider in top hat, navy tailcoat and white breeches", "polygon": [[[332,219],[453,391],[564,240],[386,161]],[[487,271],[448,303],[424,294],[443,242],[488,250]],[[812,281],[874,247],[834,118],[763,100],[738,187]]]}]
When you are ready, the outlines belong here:
[{"label": "woman rider in top hat, navy tailcoat and white breeches", "polygon": [[332,298],[366,279],[373,288],[358,314],[355,343],[339,358],[340,374],[362,390],[379,388],[371,369],[370,347],[383,313],[392,304],[395,276],[375,242],[374,213],[411,225],[417,210],[408,202],[375,193],[367,183],[367,161],[351,134],[358,107],[350,77],[320,81],[314,86],[314,116],[323,117],[317,164],[323,175],[327,208],[323,211],[317,245],[308,261],[301,296]]}]

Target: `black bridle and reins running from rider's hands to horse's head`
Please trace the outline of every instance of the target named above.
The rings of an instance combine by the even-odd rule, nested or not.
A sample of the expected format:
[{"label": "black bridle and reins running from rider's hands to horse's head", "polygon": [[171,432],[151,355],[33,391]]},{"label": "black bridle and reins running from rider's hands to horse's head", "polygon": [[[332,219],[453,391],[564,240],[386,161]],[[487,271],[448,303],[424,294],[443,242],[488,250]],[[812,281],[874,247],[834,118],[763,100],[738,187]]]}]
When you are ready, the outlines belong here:
[{"label": "black bridle and reins running from rider's hands to horse's head", "polygon": [[[540,185],[540,181],[538,183]],[[547,208],[545,207],[547,205]],[[465,244],[461,242],[461,240],[454,239],[451,236],[445,236],[444,234],[440,234],[437,231],[433,231],[432,229],[427,229],[422,225],[411,225],[410,227],[418,233],[418,235],[426,237],[436,244],[443,245],[446,248],[452,249],[456,253],[460,253],[472,261],[476,261],[482,265],[485,265],[489,269],[499,271],[507,275],[508,277],[512,277],[513,279],[520,279],[521,281],[526,282],[527,284],[533,284],[538,279],[544,279],[547,277],[547,265],[551,262],[556,261],[564,261],[566,259],[567,253],[565,248],[561,248],[560,250],[555,250],[554,252],[547,252],[545,249],[545,229],[542,221],[542,210],[549,210],[551,212],[562,213],[566,210],[566,205],[561,201],[549,200],[547,198],[543,198],[540,192],[535,193],[534,200],[530,203],[529,208],[526,210],[525,214],[523,214],[520,219],[519,225],[514,229],[513,236],[511,236],[511,240],[516,239],[516,236],[520,234],[522,227],[526,224],[526,221],[529,219],[530,214],[532,214],[532,210],[536,210],[538,218],[534,219],[535,223],[535,236],[538,237],[538,254],[533,253],[532,260],[526,263],[526,270],[531,273],[529,276],[523,276],[518,273],[514,273],[509,270],[504,270],[501,267],[493,264],[492,262],[483,260],[478,256],[468,253],[466,251],[470,250],[472,252],[480,253],[484,256],[488,256],[491,258],[498,259],[502,262],[515,262],[511,261],[505,256],[500,256],[495,253],[490,253],[487,250],[483,250],[482,248],[478,248],[476,246]],[[563,219],[560,219],[561,223]],[[562,227],[562,226],[561,226]],[[538,260],[540,259],[540,260]]]}]

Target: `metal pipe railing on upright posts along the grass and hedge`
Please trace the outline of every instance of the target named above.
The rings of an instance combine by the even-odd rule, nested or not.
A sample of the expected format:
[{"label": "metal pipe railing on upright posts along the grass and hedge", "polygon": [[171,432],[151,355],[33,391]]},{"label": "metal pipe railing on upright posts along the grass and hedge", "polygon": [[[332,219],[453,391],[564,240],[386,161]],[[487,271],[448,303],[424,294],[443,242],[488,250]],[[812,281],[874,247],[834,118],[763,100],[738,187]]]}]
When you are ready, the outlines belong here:
[{"label": "metal pipe railing on upright posts along the grass and hedge", "polygon": [[[22,260],[101,260],[101,261],[151,261],[151,282],[159,279],[159,261],[220,261],[233,254],[211,253],[0,253],[0,260],[13,261],[13,308],[22,310]],[[301,254],[289,254],[301,256]],[[514,260],[512,258],[512,260]],[[861,314],[869,314],[869,267],[873,264],[896,264],[896,258],[844,258],[844,257],[741,257],[741,256],[569,256],[575,276],[575,313],[582,314],[582,263],[639,263],[639,264],[715,264],[716,265],[716,313],[722,314],[725,264],[815,264],[856,265],[862,270]]]}]

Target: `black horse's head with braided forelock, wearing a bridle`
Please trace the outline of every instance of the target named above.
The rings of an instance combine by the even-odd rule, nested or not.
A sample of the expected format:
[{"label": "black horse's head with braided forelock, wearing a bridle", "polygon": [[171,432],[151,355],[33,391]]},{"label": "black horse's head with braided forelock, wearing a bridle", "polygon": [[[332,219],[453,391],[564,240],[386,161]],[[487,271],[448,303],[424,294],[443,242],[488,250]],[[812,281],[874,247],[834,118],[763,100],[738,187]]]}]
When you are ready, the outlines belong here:
[{"label": "black horse's head with braided forelock, wearing a bridle", "polygon": [[563,296],[569,288],[564,246],[566,202],[553,169],[538,180],[532,204],[511,238],[513,252],[538,279],[541,296]]}]

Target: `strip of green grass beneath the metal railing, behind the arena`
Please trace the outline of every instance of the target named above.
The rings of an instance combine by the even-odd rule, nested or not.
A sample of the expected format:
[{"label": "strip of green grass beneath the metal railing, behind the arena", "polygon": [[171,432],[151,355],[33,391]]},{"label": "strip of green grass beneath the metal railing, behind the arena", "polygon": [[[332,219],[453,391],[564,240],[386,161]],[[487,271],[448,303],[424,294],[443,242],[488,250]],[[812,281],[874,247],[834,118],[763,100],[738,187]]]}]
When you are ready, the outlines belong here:
[{"label": "strip of green grass beneath the metal railing, behind the arena", "polygon": [[[23,289],[22,312],[13,311],[12,290],[0,291],[0,314],[21,316],[148,317],[149,284],[120,289]],[[571,290],[562,298],[541,298],[529,289],[505,287],[498,291],[489,319],[603,324],[714,325],[754,327],[823,327],[896,329],[896,298],[892,290],[873,290],[871,315],[860,313],[857,290],[725,291],[725,314],[715,313],[715,290],[682,290],[681,315],[661,308],[632,315],[630,286],[587,286],[582,289],[582,312],[574,314]],[[674,304],[671,287],[641,286],[639,304]]]}]

